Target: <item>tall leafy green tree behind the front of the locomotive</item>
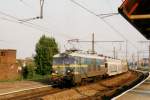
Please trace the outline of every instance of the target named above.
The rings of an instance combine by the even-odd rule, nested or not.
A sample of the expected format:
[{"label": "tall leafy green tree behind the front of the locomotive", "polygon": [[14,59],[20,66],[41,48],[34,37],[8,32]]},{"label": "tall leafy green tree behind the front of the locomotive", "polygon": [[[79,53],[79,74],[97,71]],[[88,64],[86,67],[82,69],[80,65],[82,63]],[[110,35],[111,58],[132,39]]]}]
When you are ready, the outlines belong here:
[{"label": "tall leafy green tree behind the front of the locomotive", "polygon": [[40,75],[49,74],[52,70],[53,56],[59,52],[55,39],[43,35],[36,44],[35,51],[36,73]]}]

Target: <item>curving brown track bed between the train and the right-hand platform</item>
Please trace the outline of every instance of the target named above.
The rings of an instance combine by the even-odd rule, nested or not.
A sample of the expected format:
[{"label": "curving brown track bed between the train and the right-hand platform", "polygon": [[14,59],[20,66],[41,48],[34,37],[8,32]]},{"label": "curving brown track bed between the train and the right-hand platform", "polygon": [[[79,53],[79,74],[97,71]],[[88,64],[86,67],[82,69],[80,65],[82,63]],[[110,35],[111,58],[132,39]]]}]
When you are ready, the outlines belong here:
[{"label": "curving brown track bed between the train and the right-hand platform", "polygon": [[[72,100],[72,99],[81,99],[81,100],[110,100],[114,99],[118,95],[133,89],[138,84],[142,84],[147,78],[147,74],[142,74],[141,72],[130,71],[126,74],[121,74],[108,78],[106,80],[101,80],[95,84],[81,86],[76,89],[68,90],[68,92],[61,92],[55,95],[48,95],[42,97],[44,100],[53,100],[57,98],[58,100]],[[126,80],[126,82],[125,82]],[[65,95],[65,96],[63,96]],[[70,95],[72,97],[67,97]],[[59,98],[59,96],[61,98]]]}]

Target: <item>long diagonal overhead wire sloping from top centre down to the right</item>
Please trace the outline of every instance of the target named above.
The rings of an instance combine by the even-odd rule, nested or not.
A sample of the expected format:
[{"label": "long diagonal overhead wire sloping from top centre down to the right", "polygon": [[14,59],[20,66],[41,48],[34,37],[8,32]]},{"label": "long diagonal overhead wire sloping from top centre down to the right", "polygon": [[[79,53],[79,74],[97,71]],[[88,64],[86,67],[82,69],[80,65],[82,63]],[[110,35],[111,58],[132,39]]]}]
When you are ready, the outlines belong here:
[{"label": "long diagonal overhead wire sloping from top centre down to the right", "polygon": [[124,40],[130,42],[132,46],[134,46],[136,49],[138,49],[131,41],[129,41],[124,35],[122,35],[113,25],[111,25],[109,22],[107,22],[104,18],[101,18],[99,16],[100,14],[96,14],[95,12],[89,10],[88,8],[84,7],[83,5],[81,5],[80,3],[76,2],[75,0],[70,0],[70,1],[72,3],[74,3],[74,4],[76,4],[77,6],[79,6],[80,8],[84,9],[85,11],[89,12],[90,14],[92,14],[92,15],[97,16],[98,18],[100,18],[105,24],[107,24],[111,29],[113,29],[116,34],[118,34]]}]

